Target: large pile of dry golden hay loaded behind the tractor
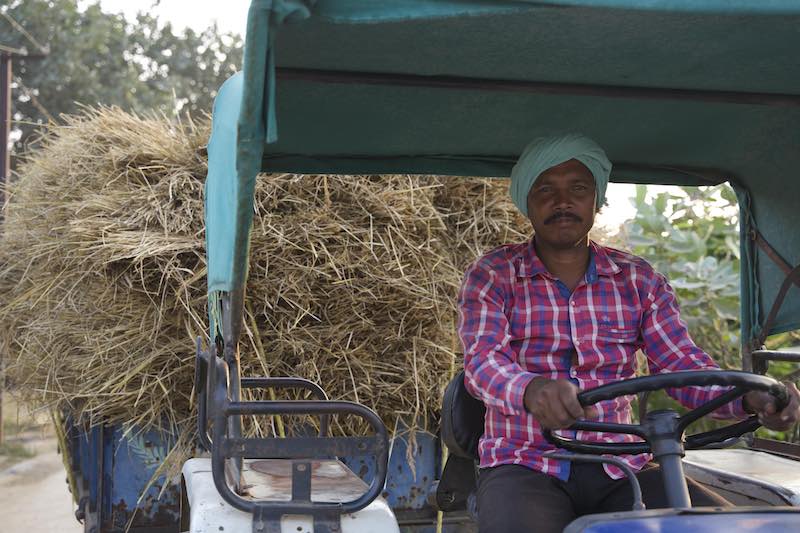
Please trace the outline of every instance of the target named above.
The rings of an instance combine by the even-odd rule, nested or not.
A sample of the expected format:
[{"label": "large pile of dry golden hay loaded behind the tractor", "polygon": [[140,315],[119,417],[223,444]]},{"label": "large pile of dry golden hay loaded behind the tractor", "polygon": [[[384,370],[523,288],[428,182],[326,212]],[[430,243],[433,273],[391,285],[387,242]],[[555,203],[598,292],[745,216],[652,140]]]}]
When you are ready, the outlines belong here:
[{"label": "large pile of dry golden hay loaded behind the tractor", "polygon": [[[22,166],[0,247],[0,342],[28,400],[89,423],[168,420],[188,450],[194,338],[207,336],[207,136],[205,123],[87,110]],[[243,374],[301,375],[390,430],[435,431],[460,360],[463,270],[520,229],[501,181],[262,176]]]}]

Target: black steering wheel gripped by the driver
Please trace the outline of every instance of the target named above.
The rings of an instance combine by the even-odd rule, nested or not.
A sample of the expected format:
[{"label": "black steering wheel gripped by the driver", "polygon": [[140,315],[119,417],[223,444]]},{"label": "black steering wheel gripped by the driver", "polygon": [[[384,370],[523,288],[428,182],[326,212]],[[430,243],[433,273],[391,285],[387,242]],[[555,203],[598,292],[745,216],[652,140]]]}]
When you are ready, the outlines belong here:
[{"label": "black steering wheel gripped by the driver", "polygon": [[653,453],[656,455],[656,460],[658,460],[658,456],[665,453],[675,454],[677,452],[683,455],[683,449],[702,448],[758,429],[761,423],[758,421],[758,416],[752,415],[742,422],[690,435],[685,437],[684,440],[684,431],[689,424],[726,403],[743,396],[747,392],[768,392],[775,398],[775,407],[778,411],[789,403],[789,394],[786,386],[782,383],[767,376],[730,370],[689,370],[617,381],[579,393],[578,401],[582,406],[586,407],[603,400],[611,400],[619,396],[628,396],[645,391],[690,386],[707,387],[710,385],[732,386],[733,389],[696,409],[692,409],[683,416],[678,416],[677,412],[666,409],[648,413],[645,420],[640,421],[639,424],[615,424],[579,420],[567,428],[570,430],[636,435],[644,439],[644,442],[590,442],[564,438],[554,434],[551,430],[544,430],[543,434],[551,444],[577,453],[614,455]]}]

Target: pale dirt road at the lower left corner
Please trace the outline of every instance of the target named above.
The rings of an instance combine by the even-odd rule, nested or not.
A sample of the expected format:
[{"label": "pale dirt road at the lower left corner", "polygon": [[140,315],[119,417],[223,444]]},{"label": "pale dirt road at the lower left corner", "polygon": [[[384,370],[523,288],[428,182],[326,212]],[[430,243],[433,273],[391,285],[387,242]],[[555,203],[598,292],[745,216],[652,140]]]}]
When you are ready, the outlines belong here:
[{"label": "pale dirt road at the lower left corner", "polygon": [[0,471],[0,533],[81,533],[55,439],[33,447],[35,457]]}]

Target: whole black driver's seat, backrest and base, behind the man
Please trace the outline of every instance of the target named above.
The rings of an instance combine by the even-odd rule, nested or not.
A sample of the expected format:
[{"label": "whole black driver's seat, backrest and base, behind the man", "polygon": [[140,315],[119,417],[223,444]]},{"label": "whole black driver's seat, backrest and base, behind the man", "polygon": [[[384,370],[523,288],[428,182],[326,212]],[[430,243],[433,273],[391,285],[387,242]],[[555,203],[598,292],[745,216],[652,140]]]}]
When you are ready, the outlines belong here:
[{"label": "whole black driver's seat, backrest and base, behind the man", "polygon": [[485,417],[486,407],[467,392],[462,370],[448,383],[442,400],[441,437],[450,455],[435,493],[441,511],[476,514],[478,442]]}]

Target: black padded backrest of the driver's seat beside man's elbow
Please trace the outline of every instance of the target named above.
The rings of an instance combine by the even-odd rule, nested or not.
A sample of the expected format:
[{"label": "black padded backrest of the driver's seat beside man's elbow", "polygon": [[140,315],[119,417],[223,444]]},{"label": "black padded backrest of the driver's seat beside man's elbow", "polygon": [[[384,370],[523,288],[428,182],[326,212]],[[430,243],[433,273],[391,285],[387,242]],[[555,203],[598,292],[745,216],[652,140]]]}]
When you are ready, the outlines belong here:
[{"label": "black padded backrest of the driver's seat beside man's elbow", "polygon": [[485,417],[486,407],[467,392],[462,370],[447,385],[442,401],[442,441],[450,453],[478,459]]}]

